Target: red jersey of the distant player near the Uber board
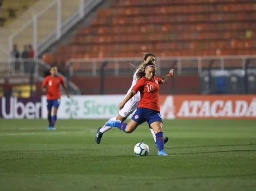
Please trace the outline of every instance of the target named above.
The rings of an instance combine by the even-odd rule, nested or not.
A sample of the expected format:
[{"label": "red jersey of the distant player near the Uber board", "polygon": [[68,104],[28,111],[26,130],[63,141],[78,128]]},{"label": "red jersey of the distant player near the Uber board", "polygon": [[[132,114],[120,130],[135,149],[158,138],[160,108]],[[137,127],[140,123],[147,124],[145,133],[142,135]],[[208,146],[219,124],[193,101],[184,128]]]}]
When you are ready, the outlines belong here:
[{"label": "red jersey of the distant player near the Uber board", "polygon": [[48,75],[45,77],[44,82],[42,82],[42,86],[47,85],[47,99],[59,99],[60,98],[60,85],[65,85],[65,81],[62,77],[57,75],[56,77],[52,77]]}]

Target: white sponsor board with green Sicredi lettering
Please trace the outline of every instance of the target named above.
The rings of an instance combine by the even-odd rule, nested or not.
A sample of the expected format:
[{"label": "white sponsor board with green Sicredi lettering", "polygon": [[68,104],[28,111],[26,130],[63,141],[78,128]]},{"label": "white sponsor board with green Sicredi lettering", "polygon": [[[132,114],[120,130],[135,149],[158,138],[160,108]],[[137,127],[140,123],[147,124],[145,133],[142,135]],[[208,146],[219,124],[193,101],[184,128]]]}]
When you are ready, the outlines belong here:
[{"label": "white sponsor board with green Sicredi lettering", "polygon": [[[118,115],[118,104],[125,95],[63,95],[58,119],[109,119]],[[42,118],[47,118],[47,100],[42,97]]]}]

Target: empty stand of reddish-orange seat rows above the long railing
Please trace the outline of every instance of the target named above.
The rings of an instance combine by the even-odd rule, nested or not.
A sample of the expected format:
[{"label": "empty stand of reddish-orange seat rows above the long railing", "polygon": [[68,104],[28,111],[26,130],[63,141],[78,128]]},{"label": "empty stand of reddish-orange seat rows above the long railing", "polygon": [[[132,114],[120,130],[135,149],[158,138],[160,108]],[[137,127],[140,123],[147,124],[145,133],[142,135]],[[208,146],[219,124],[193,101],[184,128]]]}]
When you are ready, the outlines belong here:
[{"label": "empty stand of reddish-orange seat rows above the long railing", "polygon": [[70,58],[255,54],[256,1],[113,0],[54,61]]}]

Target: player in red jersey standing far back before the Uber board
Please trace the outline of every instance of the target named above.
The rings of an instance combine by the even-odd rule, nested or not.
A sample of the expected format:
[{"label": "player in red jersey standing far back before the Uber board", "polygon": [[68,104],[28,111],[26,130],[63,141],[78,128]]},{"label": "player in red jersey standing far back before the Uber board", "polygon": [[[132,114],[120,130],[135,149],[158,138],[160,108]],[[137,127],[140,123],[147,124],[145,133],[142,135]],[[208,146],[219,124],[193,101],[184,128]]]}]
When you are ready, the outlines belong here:
[{"label": "player in red jersey standing far back before the Uber board", "polygon": [[[63,86],[66,95],[70,97],[68,90],[66,90],[65,81],[62,77],[57,75],[58,69],[56,66],[51,66],[50,73],[45,77],[44,82],[42,82],[42,91],[46,92],[47,98],[47,110],[48,110],[48,130],[55,130],[54,125],[57,120],[57,111],[60,104],[60,85]],[[47,90],[46,90],[47,86]],[[53,107],[53,116],[52,116],[52,107]]]}]

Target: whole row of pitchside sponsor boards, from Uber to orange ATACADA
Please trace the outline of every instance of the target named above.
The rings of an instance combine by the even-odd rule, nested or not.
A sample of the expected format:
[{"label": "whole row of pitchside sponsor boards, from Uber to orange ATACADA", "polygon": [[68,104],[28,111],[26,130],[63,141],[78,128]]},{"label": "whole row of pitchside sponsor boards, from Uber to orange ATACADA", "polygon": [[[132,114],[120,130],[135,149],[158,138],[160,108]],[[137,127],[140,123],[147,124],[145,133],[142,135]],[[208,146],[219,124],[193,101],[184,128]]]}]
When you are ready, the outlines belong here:
[{"label": "whole row of pitchside sponsor boards, from Uber to orange ATACADA", "polygon": [[[58,119],[109,119],[125,95],[62,96]],[[256,119],[256,95],[161,95],[163,119]],[[46,97],[0,98],[0,117],[46,119]]]}]

